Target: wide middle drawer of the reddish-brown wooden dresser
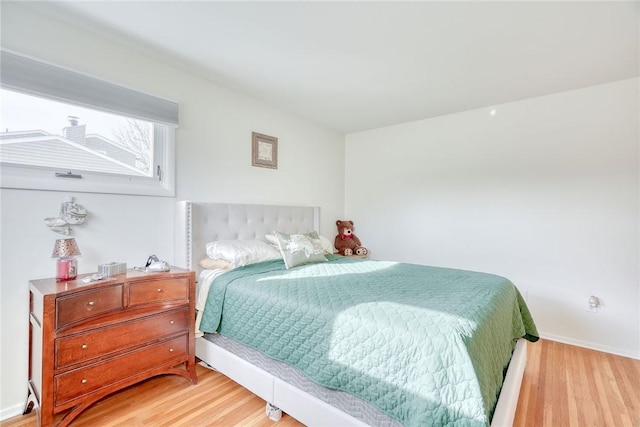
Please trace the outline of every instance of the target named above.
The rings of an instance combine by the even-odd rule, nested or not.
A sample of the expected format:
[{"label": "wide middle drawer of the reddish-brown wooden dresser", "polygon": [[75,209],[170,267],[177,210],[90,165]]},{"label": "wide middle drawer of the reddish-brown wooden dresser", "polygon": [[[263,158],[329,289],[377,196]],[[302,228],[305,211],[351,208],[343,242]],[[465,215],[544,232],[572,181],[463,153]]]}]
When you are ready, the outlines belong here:
[{"label": "wide middle drawer of the reddish-brown wooden dresser", "polygon": [[158,314],[56,340],[56,369],[157,341],[189,328],[189,310]]}]

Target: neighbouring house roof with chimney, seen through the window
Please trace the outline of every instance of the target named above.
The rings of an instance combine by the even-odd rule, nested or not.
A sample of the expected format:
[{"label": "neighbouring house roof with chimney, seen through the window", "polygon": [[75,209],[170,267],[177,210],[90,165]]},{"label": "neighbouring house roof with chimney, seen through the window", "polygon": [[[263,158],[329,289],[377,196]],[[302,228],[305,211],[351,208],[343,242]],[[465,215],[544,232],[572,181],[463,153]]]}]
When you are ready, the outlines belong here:
[{"label": "neighbouring house roof with chimney, seen through the window", "polygon": [[[3,132],[0,134],[0,162],[62,171],[82,169],[145,176],[135,167],[135,154],[129,150],[114,146],[99,135],[88,135],[85,144],[42,130]],[[128,164],[131,158],[133,162]]]}]

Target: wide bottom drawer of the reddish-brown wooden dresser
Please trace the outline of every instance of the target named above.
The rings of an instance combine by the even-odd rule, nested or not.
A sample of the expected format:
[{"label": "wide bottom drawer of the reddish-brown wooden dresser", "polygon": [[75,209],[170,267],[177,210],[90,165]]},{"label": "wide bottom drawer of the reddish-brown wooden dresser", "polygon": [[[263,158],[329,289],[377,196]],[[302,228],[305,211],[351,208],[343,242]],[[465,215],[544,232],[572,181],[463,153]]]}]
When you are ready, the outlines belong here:
[{"label": "wide bottom drawer of the reddish-brown wooden dresser", "polygon": [[[76,369],[55,377],[55,405],[98,391],[101,388],[125,381],[143,371],[183,358],[189,349],[188,335],[153,344],[148,347],[97,363],[83,369]],[[177,360],[180,363],[181,360]]]}]

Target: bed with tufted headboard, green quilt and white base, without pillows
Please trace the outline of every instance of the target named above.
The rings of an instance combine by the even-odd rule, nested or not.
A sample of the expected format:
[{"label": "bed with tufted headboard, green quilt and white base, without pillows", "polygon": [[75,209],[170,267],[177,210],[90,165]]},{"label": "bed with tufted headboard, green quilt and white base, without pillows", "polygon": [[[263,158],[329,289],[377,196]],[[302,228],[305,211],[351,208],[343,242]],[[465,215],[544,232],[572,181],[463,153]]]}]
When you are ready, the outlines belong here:
[{"label": "bed with tufted headboard, green quilt and white base, without pillows", "polygon": [[[199,320],[206,324],[202,329],[209,333],[199,334],[196,339],[196,356],[268,402],[267,412],[280,408],[310,426],[511,425],[526,363],[526,341],[518,338],[535,341],[537,331],[517,289],[504,278],[332,256],[327,256],[330,260],[326,262],[291,269],[286,269],[282,260],[261,262],[219,274],[213,281],[207,280],[206,271],[200,271],[198,262],[207,258],[206,247],[210,242],[265,241],[265,236],[276,230],[284,236],[319,231],[319,223],[319,209],[313,207],[178,203],[175,264],[196,270],[201,277],[200,285],[209,282],[211,286],[206,291],[208,305],[203,310],[204,316],[199,313],[204,317]],[[466,284],[473,282],[475,296],[457,296],[465,304],[454,304],[452,313],[439,310],[440,305],[450,304],[445,301],[452,299],[446,292],[437,291],[440,293],[430,297],[431,305],[424,306],[412,299],[414,288],[403,287],[419,281],[423,274],[448,283],[452,294],[462,292],[462,288],[469,287]],[[344,277],[349,278],[350,285],[343,286],[337,281]],[[403,280],[393,286],[398,288],[397,295],[390,298],[392,286],[385,287],[385,283],[393,277]],[[256,278],[260,282],[257,288]],[[516,300],[509,303],[517,304],[516,308],[489,307],[487,303],[490,309],[485,309],[481,300],[485,289],[493,286],[505,289],[511,296],[501,296],[500,290],[498,296],[487,297],[492,299],[491,304],[502,304],[503,299]],[[217,296],[212,296],[214,292]],[[323,292],[326,295],[309,295]],[[279,302],[275,294],[295,295],[295,299]],[[332,307],[325,308],[324,300],[332,300],[328,304]],[[253,308],[247,308],[246,304]],[[458,305],[467,306],[479,317],[470,317]],[[400,323],[395,318],[388,321],[389,311],[400,313]],[[275,317],[269,318],[269,312],[275,313]],[[423,320],[427,319],[425,312],[435,313],[436,317]],[[513,320],[514,324],[520,324],[505,328],[504,333],[497,332],[502,328],[491,324],[476,327],[484,322],[479,318],[498,318],[493,316],[494,312],[502,313],[503,318],[517,312],[514,318],[522,315],[524,320]],[[314,325],[313,319],[324,319],[325,323]],[[375,326],[361,324],[363,319]],[[434,323],[439,329],[453,328],[443,333],[448,340],[461,336],[443,347],[432,338],[435,332],[424,332],[422,322]],[[296,325],[304,327],[294,331]],[[373,338],[364,333],[368,330],[375,332]],[[386,335],[380,331],[386,331]],[[413,336],[416,332],[418,335]],[[319,338],[314,341],[316,337]],[[342,341],[337,337],[342,337]],[[426,341],[429,343],[424,344]],[[427,353],[405,348],[416,342],[419,351]],[[499,372],[491,374],[499,376],[499,384],[487,385],[485,382],[496,380],[475,377],[486,376],[483,372],[491,369],[480,366],[485,362],[467,359],[469,354],[475,356],[492,347],[503,348],[504,354],[489,357],[492,360],[488,365],[499,366],[498,369],[493,366],[492,370]],[[507,347],[508,351],[504,350]],[[397,354],[402,355],[400,360],[392,360]],[[309,355],[323,360],[317,362]],[[437,378],[429,372],[419,372],[419,378],[425,375],[424,380],[416,382],[415,371],[420,371],[423,365],[416,363],[416,358],[438,359],[437,363],[446,365],[440,370],[450,372],[438,373]],[[496,358],[502,360],[493,360]],[[379,361],[374,364],[374,371],[360,366],[364,359]],[[399,373],[405,375],[402,371],[407,366],[410,372],[398,383]]]}]

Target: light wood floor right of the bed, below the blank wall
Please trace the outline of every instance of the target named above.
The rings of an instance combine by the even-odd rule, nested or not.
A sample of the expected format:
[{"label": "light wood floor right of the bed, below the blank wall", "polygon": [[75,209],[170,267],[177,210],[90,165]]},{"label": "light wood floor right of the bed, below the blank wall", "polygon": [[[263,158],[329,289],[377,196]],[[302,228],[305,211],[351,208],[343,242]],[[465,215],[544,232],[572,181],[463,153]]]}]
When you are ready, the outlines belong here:
[{"label": "light wood floor right of the bed, below the blank wall", "polygon": [[640,360],[529,344],[514,426],[640,427]]}]

